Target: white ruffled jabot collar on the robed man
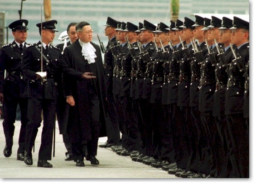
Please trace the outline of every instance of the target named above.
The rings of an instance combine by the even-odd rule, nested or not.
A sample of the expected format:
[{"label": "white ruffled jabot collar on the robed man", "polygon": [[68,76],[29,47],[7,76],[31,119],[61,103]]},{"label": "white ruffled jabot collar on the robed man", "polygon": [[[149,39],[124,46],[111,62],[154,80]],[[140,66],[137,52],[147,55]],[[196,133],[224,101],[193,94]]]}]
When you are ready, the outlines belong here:
[{"label": "white ruffled jabot collar on the robed man", "polygon": [[94,58],[97,57],[95,54],[96,49],[92,46],[90,42],[85,43],[82,42],[80,39],[78,41],[82,47],[82,56],[84,56],[84,59],[88,61],[88,64],[94,63]]}]

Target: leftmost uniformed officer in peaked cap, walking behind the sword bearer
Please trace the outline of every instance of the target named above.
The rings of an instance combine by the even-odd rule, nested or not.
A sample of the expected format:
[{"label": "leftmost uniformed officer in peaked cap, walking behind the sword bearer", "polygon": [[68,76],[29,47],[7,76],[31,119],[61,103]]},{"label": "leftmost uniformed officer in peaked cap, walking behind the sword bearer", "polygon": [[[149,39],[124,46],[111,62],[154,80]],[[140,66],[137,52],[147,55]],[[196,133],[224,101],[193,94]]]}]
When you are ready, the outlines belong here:
[{"label": "leftmost uniformed officer in peaked cap, walking behind the sword bearer", "polygon": [[[23,97],[26,82],[21,73],[22,51],[28,47],[27,39],[28,20],[21,19],[11,23],[8,27],[12,30],[14,41],[0,49],[0,102],[3,103],[5,133],[4,156],[12,154],[14,123],[17,105],[21,109],[21,127],[19,132],[19,148],[17,160],[24,160],[24,143],[26,125],[28,123],[27,109],[28,99]],[[5,70],[7,76],[5,77]]]}]

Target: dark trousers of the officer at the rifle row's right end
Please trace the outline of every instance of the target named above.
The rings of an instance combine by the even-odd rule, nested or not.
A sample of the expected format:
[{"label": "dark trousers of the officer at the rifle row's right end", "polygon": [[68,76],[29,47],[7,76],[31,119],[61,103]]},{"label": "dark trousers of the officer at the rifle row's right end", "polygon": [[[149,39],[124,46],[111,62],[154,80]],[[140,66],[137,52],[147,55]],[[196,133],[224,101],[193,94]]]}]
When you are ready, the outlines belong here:
[{"label": "dark trousers of the officer at the rifle row's right end", "polygon": [[228,156],[233,178],[249,177],[249,122],[242,113],[226,115],[230,144]]}]

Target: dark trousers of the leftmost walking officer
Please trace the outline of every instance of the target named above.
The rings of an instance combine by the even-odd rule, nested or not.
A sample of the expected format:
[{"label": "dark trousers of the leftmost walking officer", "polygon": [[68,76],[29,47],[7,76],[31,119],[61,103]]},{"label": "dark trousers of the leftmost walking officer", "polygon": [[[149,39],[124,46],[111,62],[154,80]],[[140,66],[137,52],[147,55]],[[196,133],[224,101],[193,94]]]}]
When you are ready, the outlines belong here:
[{"label": "dark trousers of the leftmost walking officer", "polygon": [[19,148],[17,153],[24,153],[25,134],[26,126],[28,123],[28,99],[27,98],[16,98],[11,97],[9,94],[5,94],[3,103],[3,128],[5,133],[5,144],[7,147],[12,148],[13,146],[13,135],[14,135],[14,123],[16,119],[17,105],[20,107],[20,131],[19,131]]}]

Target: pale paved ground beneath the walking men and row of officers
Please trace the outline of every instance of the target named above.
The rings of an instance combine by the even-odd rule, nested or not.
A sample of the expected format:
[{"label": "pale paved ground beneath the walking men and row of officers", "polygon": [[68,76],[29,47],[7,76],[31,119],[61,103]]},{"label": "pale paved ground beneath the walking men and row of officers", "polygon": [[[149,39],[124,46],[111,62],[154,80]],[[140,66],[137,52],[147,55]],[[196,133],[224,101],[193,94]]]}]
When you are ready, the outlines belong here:
[{"label": "pale paved ground beneath the walking men and row of officers", "polygon": [[[92,166],[89,161],[84,160],[85,167],[76,167],[74,161],[64,160],[66,149],[62,136],[58,134],[58,125],[56,127],[55,157],[49,161],[53,168],[37,167],[42,126],[36,138],[35,152],[33,153],[34,165],[25,165],[23,161],[16,160],[19,128],[20,122],[18,121],[15,123],[13,153],[9,158],[5,158],[3,155],[5,137],[2,119],[0,119],[0,178],[5,182],[10,181],[10,178],[162,178],[168,179],[168,181],[171,181],[169,180],[171,178],[177,178],[161,169],[131,161],[128,156],[116,155],[116,152],[110,148],[98,148],[97,159],[100,161],[100,165]],[[99,139],[99,143],[103,142],[106,142],[106,137]]]}]

